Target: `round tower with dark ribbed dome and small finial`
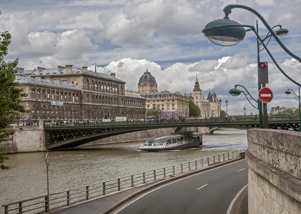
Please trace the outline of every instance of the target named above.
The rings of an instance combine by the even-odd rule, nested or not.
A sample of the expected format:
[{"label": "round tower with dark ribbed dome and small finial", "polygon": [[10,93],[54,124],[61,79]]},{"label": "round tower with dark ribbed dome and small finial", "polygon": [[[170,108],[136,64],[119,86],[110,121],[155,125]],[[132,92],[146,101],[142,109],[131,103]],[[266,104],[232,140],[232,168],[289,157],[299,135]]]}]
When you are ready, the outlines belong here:
[{"label": "round tower with dark ribbed dome and small finial", "polygon": [[157,93],[158,84],[155,77],[148,72],[147,68],[143,75],[140,77],[138,82],[138,92],[139,93]]}]

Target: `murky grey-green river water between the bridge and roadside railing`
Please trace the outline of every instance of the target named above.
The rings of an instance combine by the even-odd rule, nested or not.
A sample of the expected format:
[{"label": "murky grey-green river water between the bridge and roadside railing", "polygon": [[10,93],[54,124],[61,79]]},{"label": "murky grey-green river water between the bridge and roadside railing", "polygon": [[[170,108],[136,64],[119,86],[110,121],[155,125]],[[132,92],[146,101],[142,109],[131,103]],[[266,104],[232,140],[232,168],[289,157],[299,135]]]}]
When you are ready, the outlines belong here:
[{"label": "murky grey-green river water between the bridge and roadside railing", "polygon": [[[203,135],[203,148],[145,152],[140,142],[108,144],[67,151],[51,151],[50,193],[147,171],[184,161],[247,147],[246,130],[222,129]],[[47,194],[47,152],[10,154],[0,171],[0,205]]]}]

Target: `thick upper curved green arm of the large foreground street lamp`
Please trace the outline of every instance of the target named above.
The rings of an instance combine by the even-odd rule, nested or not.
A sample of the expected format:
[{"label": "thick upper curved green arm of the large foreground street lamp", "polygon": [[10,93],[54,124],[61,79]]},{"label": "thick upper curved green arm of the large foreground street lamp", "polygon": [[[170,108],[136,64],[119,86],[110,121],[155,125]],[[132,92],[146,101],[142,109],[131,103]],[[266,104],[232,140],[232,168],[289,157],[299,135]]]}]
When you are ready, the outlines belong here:
[{"label": "thick upper curved green arm of the large foreground street lamp", "polygon": [[[240,4],[229,4],[224,8],[225,14],[226,15],[230,14],[232,12],[232,10],[231,10],[232,8],[242,8],[242,9],[249,10],[250,12],[253,12],[262,21],[262,23],[265,25],[265,27],[268,29],[268,31],[271,33],[271,35],[275,38],[275,40],[278,42],[278,44],[282,47],[282,49],[285,52],[287,52],[291,57],[293,57],[293,58],[297,59],[299,62],[301,62],[301,58],[298,57],[297,55],[295,55],[294,53],[292,53],[289,49],[287,49],[286,46],[284,46],[284,44],[278,38],[276,33],[270,27],[270,25],[266,22],[266,20],[262,17],[262,15],[260,15],[255,9],[253,9],[251,7],[248,7],[248,6],[245,6],[245,5],[240,5]],[[259,36],[259,35],[257,35],[257,36]],[[263,46],[265,46],[262,39],[260,39],[260,42],[262,43]]]}]

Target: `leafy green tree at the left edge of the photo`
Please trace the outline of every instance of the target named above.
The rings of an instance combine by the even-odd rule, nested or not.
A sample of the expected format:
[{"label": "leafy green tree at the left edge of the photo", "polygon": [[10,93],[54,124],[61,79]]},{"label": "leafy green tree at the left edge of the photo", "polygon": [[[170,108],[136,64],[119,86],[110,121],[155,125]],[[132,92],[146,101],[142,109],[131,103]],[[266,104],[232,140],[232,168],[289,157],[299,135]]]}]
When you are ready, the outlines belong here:
[{"label": "leafy green tree at the left edge of the photo", "polygon": [[[19,115],[19,112],[28,112],[20,104],[21,98],[27,94],[23,92],[23,89],[17,88],[18,82],[15,81],[16,66],[19,59],[4,60],[11,41],[12,36],[9,32],[0,32],[0,143],[12,140],[14,131],[7,128]],[[0,147],[0,168],[2,170],[10,168],[3,164],[5,160],[9,159],[9,157],[2,155],[5,149],[3,146]]]}]

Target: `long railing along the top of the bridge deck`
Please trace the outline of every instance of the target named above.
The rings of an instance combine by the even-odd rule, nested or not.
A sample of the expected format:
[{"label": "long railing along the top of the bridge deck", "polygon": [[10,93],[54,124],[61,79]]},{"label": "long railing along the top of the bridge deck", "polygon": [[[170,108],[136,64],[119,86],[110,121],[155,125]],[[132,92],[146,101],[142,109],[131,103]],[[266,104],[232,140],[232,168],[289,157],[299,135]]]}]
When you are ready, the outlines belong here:
[{"label": "long railing along the top of the bridge deck", "polygon": [[[268,120],[270,122],[279,120],[297,120],[294,117],[289,116],[269,116]],[[70,127],[70,126],[114,126],[114,125],[134,125],[134,124],[185,124],[185,123],[203,123],[203,124],[219,124],[219,123],[237,123],[237,122],[258,122],[255,117],[216,117],[216,118],[196,118],[196,119],[152,119],[152,120],[138,120],[138,121],[110,121],[110,122],[74,122],[74,123],[46,123],[44,127]]]}]

